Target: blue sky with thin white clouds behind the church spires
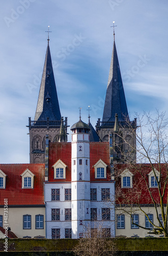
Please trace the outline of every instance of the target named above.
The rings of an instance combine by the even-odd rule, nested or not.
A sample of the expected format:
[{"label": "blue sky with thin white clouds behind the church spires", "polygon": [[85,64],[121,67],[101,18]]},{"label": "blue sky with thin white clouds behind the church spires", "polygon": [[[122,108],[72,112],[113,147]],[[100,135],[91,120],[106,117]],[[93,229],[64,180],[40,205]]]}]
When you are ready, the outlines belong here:
[{"label": "blue sky with thin white clouds behind the church spires", "polygon": [[48,25],[61,114],[70,126],[78,121],[79,107],[88,122],[88,105],[93,126],[102,119],[114,20],[130,119],[135,112],[166,111],[167,13],[166,0],[3,1],[0,162],[29,163],[26,125],[35,116]]}]

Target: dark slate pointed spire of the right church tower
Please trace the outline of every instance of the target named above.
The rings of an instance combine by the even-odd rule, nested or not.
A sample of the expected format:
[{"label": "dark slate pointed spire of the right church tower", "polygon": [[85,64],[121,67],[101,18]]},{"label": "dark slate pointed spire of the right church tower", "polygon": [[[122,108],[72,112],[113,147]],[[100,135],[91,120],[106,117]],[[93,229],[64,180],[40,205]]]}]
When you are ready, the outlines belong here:
[{"label": "dark slate pointed spire of the right church tower", "polygon": [[119,60],[114,40],[102,121],[115,121],[116,113],[118,113],[119,121],[124,121],[124,117],[128,116]]}]

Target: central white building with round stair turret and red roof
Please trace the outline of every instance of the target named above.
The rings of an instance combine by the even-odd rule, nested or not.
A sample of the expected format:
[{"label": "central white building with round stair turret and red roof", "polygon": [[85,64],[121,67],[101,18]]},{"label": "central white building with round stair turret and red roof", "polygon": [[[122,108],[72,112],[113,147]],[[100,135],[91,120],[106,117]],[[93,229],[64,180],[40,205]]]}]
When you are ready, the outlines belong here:
[{"label": "central white building with round stair turret and red roof", "polygon": [[[72,125],[72,142],[49,144],[45,177],[46,238],[82,238],[86,227],[101,224],[115,236],[114,181],[108,142],[89,142],[90,127]],[[95,225],[96,222],[96,225]]]}]

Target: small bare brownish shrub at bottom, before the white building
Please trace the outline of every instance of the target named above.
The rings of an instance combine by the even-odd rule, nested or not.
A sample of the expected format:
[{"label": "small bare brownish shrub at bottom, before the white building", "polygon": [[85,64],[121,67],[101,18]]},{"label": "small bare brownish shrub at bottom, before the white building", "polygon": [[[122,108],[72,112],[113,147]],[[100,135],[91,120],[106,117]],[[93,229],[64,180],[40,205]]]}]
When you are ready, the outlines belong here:
[{"label": "small bare brownish shrub at bottom, before the white building", "polygon": [[73,248],[75,255],[79,256],[106,256],[114,255],[116,248],[110,239],[110,229],[104,228],[103,223],[94,222],[94,228],[90,225],[85,227],[83,238]]}]

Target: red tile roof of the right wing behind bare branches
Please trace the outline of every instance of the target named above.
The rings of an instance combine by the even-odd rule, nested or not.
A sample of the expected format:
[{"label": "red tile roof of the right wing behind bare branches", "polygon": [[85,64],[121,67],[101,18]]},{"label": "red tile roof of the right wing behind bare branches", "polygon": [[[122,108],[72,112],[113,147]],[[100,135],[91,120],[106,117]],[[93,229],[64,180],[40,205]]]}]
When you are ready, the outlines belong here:
[{"label": "red tile roof of the right wing behind bare branches", "polygon": [[[163,190],[163,183],[166,177],[166,168],[165,164],[161,164],[161,191]],[[159,166],[157,164],[154,165],[154,168],[159,171]],[[133,174],[132,177],[132,188],[121,188],[121,177],[120,174],[125,170],[129,169],[129,171]],[[133,168],[127,166],[126,164],[118,164],[115,167],[116,173],[116,203],[119,202],[121,204],[153,204],[151,199],[149,190],[146,185],[146,181],[149,184],[149,173],[152,168],[150,164],[135,164]],[[145,177],[145,179],[143,178]],[[146,180],[146,181],[145,181]],[[151,194],[156,203],[160,203],[158,188],[150,188]],[[167,195],[167,185],[165,189],[165,196],[163,198],[163,203],[166,204],[166,195]]]}]

